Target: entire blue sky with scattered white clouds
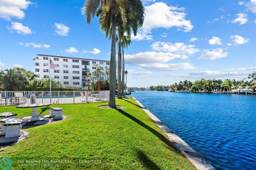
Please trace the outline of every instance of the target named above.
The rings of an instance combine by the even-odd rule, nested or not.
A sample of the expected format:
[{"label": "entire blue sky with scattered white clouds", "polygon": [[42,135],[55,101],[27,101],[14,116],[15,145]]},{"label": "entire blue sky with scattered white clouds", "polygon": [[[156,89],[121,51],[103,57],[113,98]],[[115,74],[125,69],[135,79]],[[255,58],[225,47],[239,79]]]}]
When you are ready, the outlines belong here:
[{"label": "entire blue sky with scattered white clouds", "polygon": [[[127,85],[237,79],[256,71],[256,1],[144,0],[143,28],[125,50]],[[37,54],[110,59],[98,18],[84,1],[0,1],[0,69],[34,71]]]}]

